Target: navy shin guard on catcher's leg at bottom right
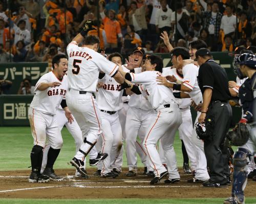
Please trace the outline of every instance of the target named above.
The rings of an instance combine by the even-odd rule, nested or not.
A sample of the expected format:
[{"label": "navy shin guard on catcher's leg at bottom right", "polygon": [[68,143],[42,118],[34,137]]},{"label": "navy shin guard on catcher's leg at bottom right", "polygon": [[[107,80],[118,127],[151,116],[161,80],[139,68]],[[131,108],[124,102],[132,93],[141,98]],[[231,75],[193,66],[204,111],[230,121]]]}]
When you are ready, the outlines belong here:
[{"label": "navy shin guard on catcher's leg at bottom right", "polygon": [[233,186],[232,196],[237,197],[239,203],[244,202],[244,189],[247,183],[247,171],[245,170],[248,164],[248,156],[250,151],[245,148],[238,148],[238,151],[234,153],[233,164]]}]

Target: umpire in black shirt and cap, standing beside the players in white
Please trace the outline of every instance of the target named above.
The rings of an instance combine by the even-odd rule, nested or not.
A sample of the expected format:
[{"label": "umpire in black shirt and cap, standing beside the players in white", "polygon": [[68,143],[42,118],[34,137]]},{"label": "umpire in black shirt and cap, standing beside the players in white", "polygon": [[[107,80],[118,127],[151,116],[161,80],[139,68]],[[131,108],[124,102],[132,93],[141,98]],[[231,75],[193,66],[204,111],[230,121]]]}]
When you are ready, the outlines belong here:
[{"label": "umpire in black shirt and cap, standing beside the players in white", "polygon": [[230,182],[226,148],[223,145],[232,117],[231,106],[228,103],[228,78],[225,70],[212,59],[208,49],[199,49],[195,61],[198,61],[200,66],[198,83],[203,95],[198,122],[204,123],[208,117],[214,120],[212,137],[204,142],[210,179],[203,183],[203,186],[221,187]]}]

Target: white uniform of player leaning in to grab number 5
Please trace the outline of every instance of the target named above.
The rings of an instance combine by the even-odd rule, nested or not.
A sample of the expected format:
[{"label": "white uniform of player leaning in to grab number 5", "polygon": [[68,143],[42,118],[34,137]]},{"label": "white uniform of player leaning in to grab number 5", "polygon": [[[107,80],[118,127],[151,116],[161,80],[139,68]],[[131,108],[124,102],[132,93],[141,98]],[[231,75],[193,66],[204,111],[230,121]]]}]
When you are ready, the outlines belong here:
[{"label": "white uniform of player leaning in to grab number 5", "polygon": [[[153,109],[157,111],[156,118],[152,120],[147,129],[143,141],[143,147],[147,154],[147,161],[154,169],[156,176],[166,171],[160,161],[159,153],[156,149],[157,141],[162,138],[162,146],[167,158],[167,167],[170,169],[172,161],[171,146],[175,139],[175,133],[181,124],[181,114],[172,90],[163,85],[158,85],[156,78],[161,76],[157,71],[146,71],[140,74],[131,73],[133,83],[142,84],[141,91],[144,90]],[[165,136],[169,132],[168,137]],[[172,167],[174,168],[174,167]],[[177,167],[176,167],[177,169]],[[177,169],[177,177],[179,177]]]}]

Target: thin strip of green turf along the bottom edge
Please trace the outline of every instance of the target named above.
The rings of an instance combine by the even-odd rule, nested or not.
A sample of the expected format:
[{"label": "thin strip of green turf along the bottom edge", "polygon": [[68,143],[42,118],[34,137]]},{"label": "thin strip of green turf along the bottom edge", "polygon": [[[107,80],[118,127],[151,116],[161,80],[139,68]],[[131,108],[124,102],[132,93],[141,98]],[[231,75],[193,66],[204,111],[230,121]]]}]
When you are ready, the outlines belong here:
[{"label": "thin strip of green turf along the bottom edge", "polygon": [[[77,204],[77,203],[90,203],[90,204],[99,204],[104,202],[104,204],[113,204],[113,203],[122,203],[122,204],[190,204],[190,203],[207,203],[207,204],[219,204],[223,203],[224,198],[190,198],[184,199],[138,199],[138,198],[124,198],[124,199],[0,199],[0,204]],[[246,204],[255,204],[256,198],[246,198]]]}]

